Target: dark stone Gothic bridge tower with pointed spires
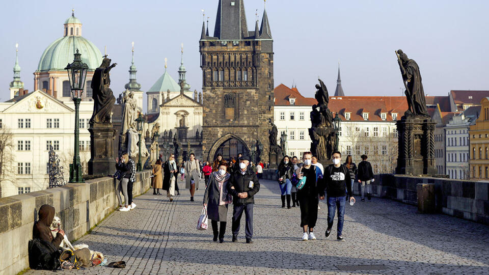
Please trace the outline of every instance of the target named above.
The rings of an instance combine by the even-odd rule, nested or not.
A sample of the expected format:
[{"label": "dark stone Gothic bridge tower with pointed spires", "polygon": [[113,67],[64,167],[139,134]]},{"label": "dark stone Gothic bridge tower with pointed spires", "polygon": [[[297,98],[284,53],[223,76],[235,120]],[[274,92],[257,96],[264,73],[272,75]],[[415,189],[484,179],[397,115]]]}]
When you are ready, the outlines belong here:
[{"label": "dark stone Gothic bridge tower with pointed spires", "polygon": [[199,41],[203,75],[203,154],[213,160],[238,153],[268,160],[274,120],[274,51],[266,11],[248,30],[243,0],[220,0],[213,36]]}]

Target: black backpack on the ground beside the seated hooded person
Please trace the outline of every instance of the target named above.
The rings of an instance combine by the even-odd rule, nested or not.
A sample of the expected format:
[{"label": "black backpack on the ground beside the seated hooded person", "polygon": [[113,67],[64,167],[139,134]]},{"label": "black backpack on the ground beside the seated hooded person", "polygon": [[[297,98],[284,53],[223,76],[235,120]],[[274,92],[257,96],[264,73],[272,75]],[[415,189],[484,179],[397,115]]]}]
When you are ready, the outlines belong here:
[{"label": "black backpack on the ground beside the seated hooded person", "polygon": [[31,269],[57,270],[60,268],[61,251],[52,243],[32,239],[29,241],[29,267]]}]

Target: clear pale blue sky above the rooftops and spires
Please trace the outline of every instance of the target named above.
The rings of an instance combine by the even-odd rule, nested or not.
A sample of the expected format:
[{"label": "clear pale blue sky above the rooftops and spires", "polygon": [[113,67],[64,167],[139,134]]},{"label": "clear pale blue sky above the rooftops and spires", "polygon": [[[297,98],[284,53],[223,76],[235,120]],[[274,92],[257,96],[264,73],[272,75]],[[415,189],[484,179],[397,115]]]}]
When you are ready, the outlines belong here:
[{"label": "clear pale blue sky above the rooftops and spires", "polygon": [[[44,49],[62,37],[63,23],[75,9],[83,36],[113,62],[115,96],[128,82],[131,42],[137,79],[147,91],[168,70],[178,81],[180,44],[184,45],[187,82],[202,91],[199,39],[202,9],[213,34],[218,0],[185,1],[5,1],[0,17],[0,100],[9,84],[19,43],[21,80],[34,86]],[[250,30],[255,13],[261,23],[263,0],[244,0]],[[489,1],[431,0],[268,0],[266,12],[274,38],[274,80],[314,95],[319,76],[334,94],[340,62],[347,96],[401,96],[403,84],[394,50],[402,49],[421,71],[427,95],[450,90],[489,90]],[[146,101],[146,98],[145,98]],[[146,102],[145,102],[146,104]]]}]

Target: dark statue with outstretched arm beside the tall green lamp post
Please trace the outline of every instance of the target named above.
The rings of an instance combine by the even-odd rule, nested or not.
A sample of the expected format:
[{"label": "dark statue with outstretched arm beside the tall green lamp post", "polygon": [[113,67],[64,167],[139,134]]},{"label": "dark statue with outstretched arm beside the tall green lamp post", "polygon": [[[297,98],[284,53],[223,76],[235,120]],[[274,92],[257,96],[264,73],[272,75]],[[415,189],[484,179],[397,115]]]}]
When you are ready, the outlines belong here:
[{"label": "dark statue with outstretched arm beside the tall green lamp post", "polygon": [[111,61],[105,57],[100,67],[95,69],[93,73],[91,88],[94,103],[90,123],[111,123],[112,109],[116,98],[109,88],[111,85],[109,72],[117,65],[117,63],[111,65]]}]

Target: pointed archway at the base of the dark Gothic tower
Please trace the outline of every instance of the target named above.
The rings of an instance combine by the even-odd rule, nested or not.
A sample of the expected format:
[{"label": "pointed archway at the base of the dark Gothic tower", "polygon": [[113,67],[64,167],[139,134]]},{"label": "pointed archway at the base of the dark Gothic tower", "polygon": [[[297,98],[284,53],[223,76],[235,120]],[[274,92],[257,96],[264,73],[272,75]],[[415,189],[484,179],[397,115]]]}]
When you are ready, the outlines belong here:
[{"label": "pointed archway at the base of the dark Gothic tower", "polygon": [[218,153],[221,153],[224,159],[229,160],[231,157],[236,157],[238,153],[250,156],[250,149],[247,143],[236,135],[227,134],[214,142],[207,156],[208,161],[212,162]]}]

